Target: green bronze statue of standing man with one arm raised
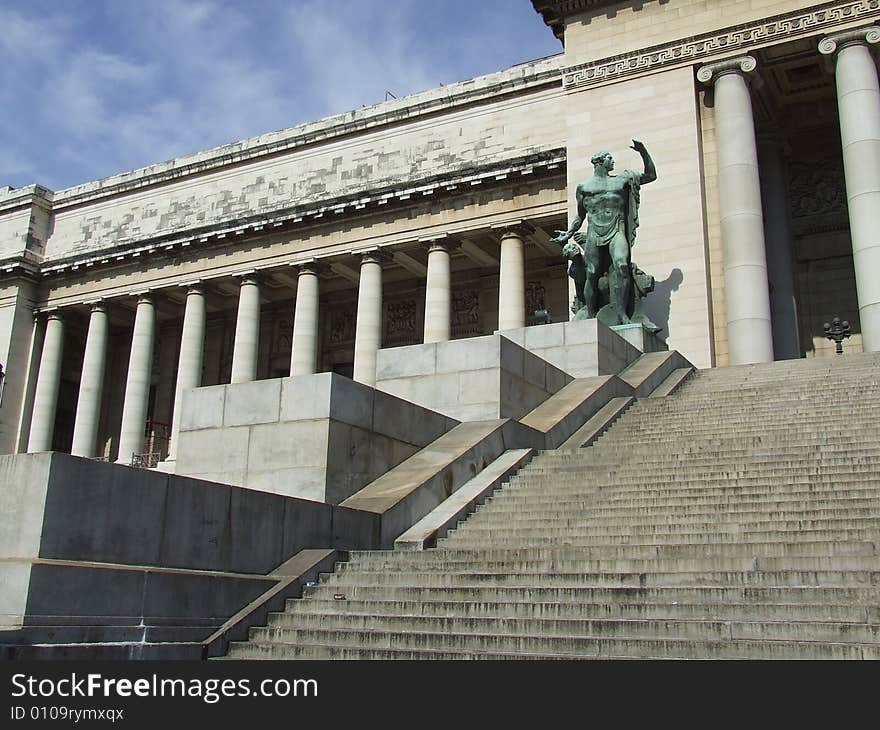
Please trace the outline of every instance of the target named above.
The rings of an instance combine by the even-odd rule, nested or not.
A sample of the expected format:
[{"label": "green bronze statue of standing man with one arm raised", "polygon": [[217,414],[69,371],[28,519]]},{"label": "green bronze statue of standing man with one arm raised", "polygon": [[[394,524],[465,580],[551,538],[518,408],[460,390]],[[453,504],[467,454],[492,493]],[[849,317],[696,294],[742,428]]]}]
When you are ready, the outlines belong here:
[{"label": "green bronze statue of standing man with one arm raised", "polygon": [[[642,156],[645,171],[612,175],[611,154],[597,152],[591,160],[593,177],[577,186],[577,217],[552,240],[563,244],[562,254],[571,262],[575,319],[598,317],[608,325],[639,323],[658,331],[641,311],[654,278],[632,262],[640,188],[657,179],[657,170],[644,144],[634,139],[631,149]],[[585,222],[586,233],[580,230]]]}]

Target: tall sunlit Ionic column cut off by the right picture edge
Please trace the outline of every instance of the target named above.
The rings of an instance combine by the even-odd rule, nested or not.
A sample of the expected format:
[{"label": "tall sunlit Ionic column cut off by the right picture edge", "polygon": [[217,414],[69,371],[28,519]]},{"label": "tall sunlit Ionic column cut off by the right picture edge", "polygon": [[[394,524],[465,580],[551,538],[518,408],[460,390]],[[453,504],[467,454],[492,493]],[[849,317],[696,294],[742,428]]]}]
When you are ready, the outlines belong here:
[{"label": "tall sunlit Ionic column cut off by the right picture edge", "polygon": [[819,51],[834,57],[843,171],[865,352],[880,351],[880,86],[868,44],[871,26],[823,38]]}]

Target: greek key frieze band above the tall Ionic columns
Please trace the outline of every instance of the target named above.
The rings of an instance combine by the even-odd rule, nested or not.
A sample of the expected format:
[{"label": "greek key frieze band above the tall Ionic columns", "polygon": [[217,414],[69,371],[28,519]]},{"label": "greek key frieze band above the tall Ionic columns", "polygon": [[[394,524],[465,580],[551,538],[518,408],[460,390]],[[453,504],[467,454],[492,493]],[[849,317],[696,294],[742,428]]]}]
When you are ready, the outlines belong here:
[{"label": "greek key frieze band above the tall Ionic columns", "polygon": [[655,46],[635,54],[574,66],[565,71],[563,85],[566,89],[571,89],[615,81],[664,66],[703,61],[721,53],[751,48],[775,38],[791,39],[831,30],[843,23],[873,19],[878,15],[880,0],[837,2],[809,11],[776,16],[759,23],[736,26],[721,33]]}]

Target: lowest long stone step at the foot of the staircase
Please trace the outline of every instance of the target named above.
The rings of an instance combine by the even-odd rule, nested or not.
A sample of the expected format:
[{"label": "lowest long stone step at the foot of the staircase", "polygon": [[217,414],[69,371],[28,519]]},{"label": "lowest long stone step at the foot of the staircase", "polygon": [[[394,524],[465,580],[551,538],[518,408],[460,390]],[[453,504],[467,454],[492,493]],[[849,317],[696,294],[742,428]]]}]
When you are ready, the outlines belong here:
[{"label": "lowest long stone step at the foot of the staircase", "polygon": [[[282,644],[301,647],[308,644],[378,649],[419,649],[490,651],[568,656],[638,656],[658,658],[714,659],[875,659],[880,647],[871,644],[841,644],[815,641],[774,641],[760,639],[692,640],[639,637],[528,636],[517,634],[454,634],[448,632],[385,632],[357,629],[326,631],[262,629],[252,631],[251,645]],[[239,654],[238,656],[242,656]]]}]

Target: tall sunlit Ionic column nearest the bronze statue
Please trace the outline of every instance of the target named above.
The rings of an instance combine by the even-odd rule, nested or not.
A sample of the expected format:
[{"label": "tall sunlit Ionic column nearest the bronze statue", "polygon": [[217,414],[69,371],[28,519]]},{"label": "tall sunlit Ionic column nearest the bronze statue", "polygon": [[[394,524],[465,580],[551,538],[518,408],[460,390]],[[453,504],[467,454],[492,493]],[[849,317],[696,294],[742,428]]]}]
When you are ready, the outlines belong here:
[{"label": "tall sunlit Ionic column nearest the bronze statue", "polygon": [[746,75],[756,66],[751,56],[740,56],[703,66],[697,72],[700,81],[715,85],[718,192],[731,365],[773,360],[761,182],[752,100],[746,81]]}]

